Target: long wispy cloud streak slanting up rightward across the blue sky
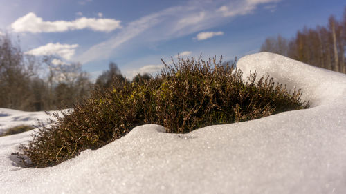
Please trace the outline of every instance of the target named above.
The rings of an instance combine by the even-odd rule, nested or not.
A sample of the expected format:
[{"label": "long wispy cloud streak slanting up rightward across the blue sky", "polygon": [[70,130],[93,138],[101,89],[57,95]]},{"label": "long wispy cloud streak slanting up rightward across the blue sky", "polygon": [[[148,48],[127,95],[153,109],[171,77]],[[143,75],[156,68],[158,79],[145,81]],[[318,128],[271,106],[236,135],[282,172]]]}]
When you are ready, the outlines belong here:
[{"label": "long wispy cloud streak slanting up rightward across the blue sky", "polygon": [[[175,39],[208,30],[229,22],[230,17],[251,14],[261,4],[278,1],[280,0],[235,0],[225,3],[224,1],[191,0],[184,5],[148,14],[128,23],[116,35],[75,57],[75,61],[81,61],[84,64],[98,59],[107,59],[110,55],[116,55],[116,49],[120,45],[141,35],[143,37],[136,39],[136,44]],[[199,37],[200,40],[207,39],[221,33],[212,32],[199,35]],[[129,45],[128,43],[126,46]]]}]

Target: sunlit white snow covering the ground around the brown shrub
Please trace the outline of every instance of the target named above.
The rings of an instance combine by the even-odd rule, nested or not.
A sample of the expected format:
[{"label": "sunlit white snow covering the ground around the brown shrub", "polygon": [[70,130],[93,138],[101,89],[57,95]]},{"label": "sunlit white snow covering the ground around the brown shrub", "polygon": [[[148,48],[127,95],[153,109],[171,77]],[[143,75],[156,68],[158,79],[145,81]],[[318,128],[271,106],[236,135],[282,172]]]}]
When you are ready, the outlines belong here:
[{"label": "sunlit white snow covering the ground around the brown shrub", "polygon": [[346,193],[346,75],[268,52],[237,66],[302,88],[311,108],[184,135],[138,126],[40,169],[10,155],[32,132],[0,137],[0,193]]}]

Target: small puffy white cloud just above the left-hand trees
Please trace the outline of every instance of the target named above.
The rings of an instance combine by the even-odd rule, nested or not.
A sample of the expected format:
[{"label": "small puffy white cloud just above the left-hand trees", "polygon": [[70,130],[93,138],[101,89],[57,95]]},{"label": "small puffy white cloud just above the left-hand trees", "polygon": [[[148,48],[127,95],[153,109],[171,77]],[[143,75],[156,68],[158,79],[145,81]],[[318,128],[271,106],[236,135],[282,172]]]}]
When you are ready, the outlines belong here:
[{"label": "small puffy white cloud just above the left-hand trees", "polygon": [[57,55],[66,60],[71,59],[75,55],[75,48],[78,47],[78,44],[60,44],[60,43],[48,43],[45,46],[40,46],[33,50],[25,52],[27,55]]}]

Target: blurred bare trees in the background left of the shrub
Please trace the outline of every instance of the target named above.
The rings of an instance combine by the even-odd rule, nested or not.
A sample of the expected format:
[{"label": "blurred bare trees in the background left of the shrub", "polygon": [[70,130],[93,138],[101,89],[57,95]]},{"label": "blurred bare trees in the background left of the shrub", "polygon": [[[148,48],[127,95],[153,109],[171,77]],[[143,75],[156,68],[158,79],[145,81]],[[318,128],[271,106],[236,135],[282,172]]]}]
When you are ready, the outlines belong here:
[{"label": "blurred bare trees in the background left of the shrub", "polygon": [[[108,88],[112,79],[127,81],[113,62],[92,83],[81,64],[57,64],[54,59],[25,55],[19,41],[0,36],[0,107],[26,111],[71,108],[88,97],[91,88]],[[149,79],[149,75],[134,78],[140,79]]]}]

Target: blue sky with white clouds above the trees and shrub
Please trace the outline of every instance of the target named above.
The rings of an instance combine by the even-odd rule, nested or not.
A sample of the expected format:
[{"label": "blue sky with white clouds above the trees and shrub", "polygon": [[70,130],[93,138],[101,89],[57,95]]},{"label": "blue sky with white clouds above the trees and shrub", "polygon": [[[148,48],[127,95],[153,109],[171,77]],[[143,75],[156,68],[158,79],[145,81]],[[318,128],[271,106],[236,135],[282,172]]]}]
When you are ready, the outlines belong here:
[{"label": "blue sky with white clouds above the trees and shrub", "polygon": [[[80,62],[93,77],[118,64],[131,78],[180,53],[224,60],[258,52],[264,39],[343,16],[339,0],[0,0],[0,33],[30,55]],[[59,61],[58,61],[59,60]]]}]

